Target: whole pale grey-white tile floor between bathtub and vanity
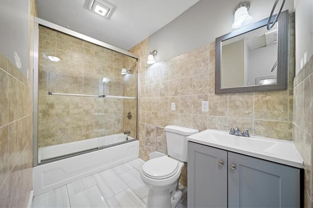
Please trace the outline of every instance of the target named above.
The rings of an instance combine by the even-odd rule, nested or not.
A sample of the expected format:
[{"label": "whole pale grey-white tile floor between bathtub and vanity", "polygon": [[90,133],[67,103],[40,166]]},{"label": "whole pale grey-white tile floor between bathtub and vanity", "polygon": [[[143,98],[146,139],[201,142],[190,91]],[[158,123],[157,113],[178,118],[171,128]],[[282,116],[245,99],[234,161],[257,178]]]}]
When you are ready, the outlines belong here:
[{"label": "whole pale grey-white tile floor between bathtub and vanity", "polygon": [[[145,208],[148,188],[140,158],[36,196],[33,208]],[[177,208],[187,207],[187,188]]]}]

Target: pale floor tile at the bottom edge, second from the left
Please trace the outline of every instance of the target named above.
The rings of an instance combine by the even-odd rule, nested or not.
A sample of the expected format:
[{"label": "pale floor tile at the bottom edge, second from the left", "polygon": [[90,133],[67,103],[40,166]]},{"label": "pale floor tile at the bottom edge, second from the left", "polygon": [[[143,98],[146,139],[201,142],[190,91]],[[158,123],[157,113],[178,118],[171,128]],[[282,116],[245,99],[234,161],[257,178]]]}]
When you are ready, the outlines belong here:
[{"label": "pale floor tile at the bottom edge, second from the left", "polygon": [[97,186],[69,197],[71,208],[110,208]]}]

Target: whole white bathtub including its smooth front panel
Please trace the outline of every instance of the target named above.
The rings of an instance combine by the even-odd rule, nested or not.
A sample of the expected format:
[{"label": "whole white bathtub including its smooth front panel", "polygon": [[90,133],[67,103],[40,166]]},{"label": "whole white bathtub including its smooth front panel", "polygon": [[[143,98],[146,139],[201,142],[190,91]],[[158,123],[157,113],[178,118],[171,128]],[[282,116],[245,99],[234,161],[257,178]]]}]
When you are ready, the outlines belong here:
[{"label": "whole white bathtub including its smooth front panel", "polygon": [[[112,144],[117,142],[115,137],[118,137],[121,140],[124,138],[123,141],[126,140],[126,136],[121,137],[121,134],[115,134],[112,135],[112,137],[103,137],[100,140],[98,140],[99,138],[96,138],[96,140],[99,141],[99,145],[109,147],[35,166],[33,168],[34,196],[38,196],[42,193],[62,187],[76,180],[112,168],[113,166],[118,166],[139,157],[138,140],[128,137],[131,139],[131,141],[129,140],[130,142],[113,146]],[[84,149],[86,149],[86,146],[89,148],[95,145],[94,141],[85,141],[85,145],[83,142],[84,141],[75,142],[77,144],[71,144],[70,148],[77,151],[81,148],[81,146],[84,146]],[[98,146],[98,142],[96,143]],[[55,145],[54,147],[54,149],[52,146],[51,148],[44,147],[46,151],[42,148],[41,160],[43,160],[43,157],[51,157],[51,155],[58,151],[61,151],[62,154],[64,152],[68,153],[68,146]],[[65,149],[67,149],[67,151],[65,151]]]}]

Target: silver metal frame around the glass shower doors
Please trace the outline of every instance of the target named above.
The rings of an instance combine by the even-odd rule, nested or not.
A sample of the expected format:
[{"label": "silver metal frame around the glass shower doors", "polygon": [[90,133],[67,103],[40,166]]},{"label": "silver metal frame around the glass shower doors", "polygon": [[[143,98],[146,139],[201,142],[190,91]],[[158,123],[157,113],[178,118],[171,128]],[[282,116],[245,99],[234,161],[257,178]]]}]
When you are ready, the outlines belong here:
[{"label": "silver metal frame around the glass shower doors", "polygon": [[93,44],[111,49],[113,51],[116,51],[118,53],[124,54],[126,56],[132,57],[137,60],[137,128],[136,128],[136,139],[138,140],[139,137],[139,56],[136,54],[133,54],[129,51],[125,51],[123,49],[117,48],[113,45],[110,45],[105,42],[98,41],[96,39],[93,39],[89,36],[83,35],[81,33],[75,32],[73,30],[70,30],[68,28],[62,27],[60,25],[54,24],[49,21],[45,21],[43,19],[34,18],[34,69],[33,69],[33,167],[38,166],[38,80],[39,80],[39,25],[43,25],[46,27],[49,27],[51,29],[63,32],[67,35],[79,38],[81,40],[91,42]]}]

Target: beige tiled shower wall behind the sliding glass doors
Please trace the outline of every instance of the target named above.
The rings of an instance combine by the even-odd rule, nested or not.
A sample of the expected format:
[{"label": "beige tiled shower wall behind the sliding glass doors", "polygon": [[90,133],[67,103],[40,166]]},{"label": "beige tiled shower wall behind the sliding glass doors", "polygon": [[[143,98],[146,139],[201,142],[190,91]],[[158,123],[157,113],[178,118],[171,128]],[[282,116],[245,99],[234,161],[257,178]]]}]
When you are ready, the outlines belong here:
[{"label": "beige tiled shower wall behind the sliding glass doors", "polygon": [[[123,99],[47,93],[129,94],[123,89],[125,77],[120,74],[127,56],[46,27],[40,27],[39,37],[39,146],[123,132]],[[61,61],[51,62],[47,56]],[[109,83],[102,83],[103,77]]]}]

